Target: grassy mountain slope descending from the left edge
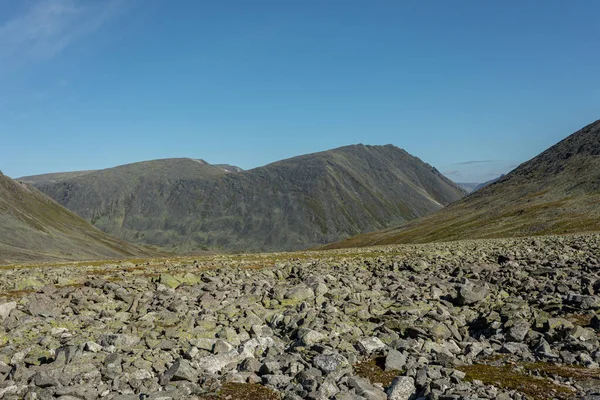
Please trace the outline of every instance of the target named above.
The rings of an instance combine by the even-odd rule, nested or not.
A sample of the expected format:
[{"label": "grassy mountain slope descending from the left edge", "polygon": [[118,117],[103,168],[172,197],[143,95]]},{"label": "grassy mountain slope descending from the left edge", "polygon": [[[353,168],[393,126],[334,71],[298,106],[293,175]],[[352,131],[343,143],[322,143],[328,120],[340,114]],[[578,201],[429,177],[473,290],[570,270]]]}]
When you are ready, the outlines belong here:
[{"label": "grassy mountain slope descending from the left edge", "polygon": [[0,173],[0,264],[155,255],[107,235],[37,189]]}]

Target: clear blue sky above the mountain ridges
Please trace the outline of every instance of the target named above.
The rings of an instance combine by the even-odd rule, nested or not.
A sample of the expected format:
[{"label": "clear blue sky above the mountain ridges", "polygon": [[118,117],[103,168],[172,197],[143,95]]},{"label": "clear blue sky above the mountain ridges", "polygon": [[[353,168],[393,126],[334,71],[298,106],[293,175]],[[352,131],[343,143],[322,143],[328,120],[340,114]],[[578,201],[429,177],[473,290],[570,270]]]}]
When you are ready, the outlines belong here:
[{"label": "clear blue sky above the mountain ridges", "polygon": [[394,144],[483,182],[600,119],[597,0],[0,0],[0,170]]}]

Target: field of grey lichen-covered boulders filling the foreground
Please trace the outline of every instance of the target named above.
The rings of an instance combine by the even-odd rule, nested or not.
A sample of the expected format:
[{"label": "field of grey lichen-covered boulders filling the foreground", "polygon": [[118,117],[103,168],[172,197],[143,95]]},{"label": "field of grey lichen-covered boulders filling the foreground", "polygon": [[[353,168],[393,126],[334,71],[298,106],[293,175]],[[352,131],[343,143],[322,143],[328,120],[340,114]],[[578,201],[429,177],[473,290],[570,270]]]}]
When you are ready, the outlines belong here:
[{"label": "field of grey lichen-covered boulders filling the foreground", "polygon": [[600,236],[5,267],[4,399],[600,399]]}]

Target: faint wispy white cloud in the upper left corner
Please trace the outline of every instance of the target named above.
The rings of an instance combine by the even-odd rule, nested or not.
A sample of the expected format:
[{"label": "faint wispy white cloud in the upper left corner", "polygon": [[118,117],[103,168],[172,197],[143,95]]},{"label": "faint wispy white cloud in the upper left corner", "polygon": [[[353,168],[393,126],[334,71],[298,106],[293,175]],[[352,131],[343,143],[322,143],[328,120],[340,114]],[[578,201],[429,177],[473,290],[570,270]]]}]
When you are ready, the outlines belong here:
[{"label": "faint wispy white cloud in the upper left corner", "polygon": [[0,25],[0,60],[48,59],[95,32],[127,8],[127,0],[34,0]]}]

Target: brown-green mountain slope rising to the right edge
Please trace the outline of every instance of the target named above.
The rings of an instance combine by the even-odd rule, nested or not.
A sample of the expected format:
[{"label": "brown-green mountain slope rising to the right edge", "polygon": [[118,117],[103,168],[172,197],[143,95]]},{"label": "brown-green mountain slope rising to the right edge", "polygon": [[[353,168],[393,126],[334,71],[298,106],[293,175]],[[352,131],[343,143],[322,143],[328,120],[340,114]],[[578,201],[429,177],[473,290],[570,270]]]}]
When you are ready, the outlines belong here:
[{"label": "brown-green mountain slope rising to the right edge", "polygon": [[600,230],[600,120],[417,221],[325,248]]}]

